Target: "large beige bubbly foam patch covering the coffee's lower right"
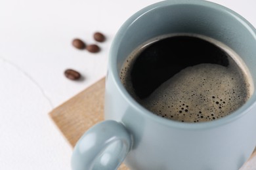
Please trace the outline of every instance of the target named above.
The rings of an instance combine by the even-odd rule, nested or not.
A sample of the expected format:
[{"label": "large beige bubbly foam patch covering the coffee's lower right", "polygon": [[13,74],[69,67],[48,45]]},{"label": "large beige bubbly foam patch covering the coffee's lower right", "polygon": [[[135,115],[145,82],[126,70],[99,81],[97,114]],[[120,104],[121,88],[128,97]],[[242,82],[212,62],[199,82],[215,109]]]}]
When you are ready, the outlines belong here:
[{"label": "large beige bubbly foam patch covering the coffee's lower right", "polygon": [[159,116],[181,122],[221,118],[244,105],[249,97],[248,84],[241,81],[243,75],[234,67],[187,67],[139,102]]}]

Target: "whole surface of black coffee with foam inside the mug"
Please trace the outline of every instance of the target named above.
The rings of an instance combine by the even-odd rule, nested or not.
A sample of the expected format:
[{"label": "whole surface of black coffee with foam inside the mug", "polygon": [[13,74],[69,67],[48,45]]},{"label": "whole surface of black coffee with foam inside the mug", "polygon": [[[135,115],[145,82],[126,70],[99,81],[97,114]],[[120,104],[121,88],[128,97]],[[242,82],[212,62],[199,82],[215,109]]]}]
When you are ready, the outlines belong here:
[{"label": "whole surface of black coffee with foam inside the mug", "polygon": [[238,54],[202,35],[163,35],[144,42],[123,63],[120,78],[140,105],[181,122],[222,118],[252,93]]}]

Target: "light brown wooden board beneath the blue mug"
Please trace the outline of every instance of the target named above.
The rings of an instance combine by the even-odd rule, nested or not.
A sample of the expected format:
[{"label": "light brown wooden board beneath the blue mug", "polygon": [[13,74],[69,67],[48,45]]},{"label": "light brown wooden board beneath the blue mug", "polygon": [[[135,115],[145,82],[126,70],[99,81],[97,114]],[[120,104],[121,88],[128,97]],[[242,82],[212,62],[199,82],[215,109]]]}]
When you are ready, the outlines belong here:
[{"label": "light brown wooden board beneath the blue mug", "polygon": [[[104,120],[105,78],[66,101],[49,115],[72,147],[91,126]],[[256,169],[256,152],[240,170]],[[254,167],[254,168],[253,168]],[[128,170],[124,164],[119,170]]]}]

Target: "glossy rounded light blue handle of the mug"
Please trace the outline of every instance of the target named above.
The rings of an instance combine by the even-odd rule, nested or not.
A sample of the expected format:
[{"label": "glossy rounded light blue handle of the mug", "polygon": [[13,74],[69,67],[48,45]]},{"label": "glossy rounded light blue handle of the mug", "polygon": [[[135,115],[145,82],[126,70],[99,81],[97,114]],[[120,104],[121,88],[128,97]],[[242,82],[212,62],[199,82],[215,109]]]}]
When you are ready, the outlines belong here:
[{"label": "glossy rounded light blue handle of the mug", "polygon": [[123,124],[105,120],[91,127],[75,144],[72,170],[113,170],[125,159],[132,136]]}]

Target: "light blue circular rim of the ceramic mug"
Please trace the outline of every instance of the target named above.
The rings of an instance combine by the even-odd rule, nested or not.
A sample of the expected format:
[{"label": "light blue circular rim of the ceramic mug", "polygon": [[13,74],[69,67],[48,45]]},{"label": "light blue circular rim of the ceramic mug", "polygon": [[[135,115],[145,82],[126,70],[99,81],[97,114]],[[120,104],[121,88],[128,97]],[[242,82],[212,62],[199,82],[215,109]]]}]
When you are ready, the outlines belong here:
[{"label": "light blue circular rim of the ceramic mug", "polygon": [[[255,95],[255,90],[253,91],[253,95],[248,99],[248,101],[242,105],[239,109],[235,110],[231,114],[228,114],[227,116],[224,116],[223,118],[219,118],[217,120],[212,120],[209,122],[178,122],[175,120],[170,120],[167,118],[162,118],[161,116],[157,116],[150,110],[147,110],[146,108],[142,107],[131,95],[125,90],[123,87],[123,84],[121,83],[121,80],[119,78],[119,73],[117,71],[117,50],[119,48],[118,41],[123,37],[123,33],[129,29],[129,26],[137,20],[137,18],[140,18],[150,10],[158,9],[160,7],[165,6],[173,6],[173,5],[200,5],[202,7],[210,7],[217,10],[222,10],[223,12],[228,12],[228,14],[231,14],[232,17],[236,18],[236,20],[240,20],[240,22],[247,27],[248,31],[254,35],[256,40],[256,31],[253,25],[251,25],[247,20],[245,20],[244,17],[240,16],[240,14],[234,12],[231,9],[228,9],[227,7],[224,7],[223,5],[219,5],[217,3],[213,3],[210,1],[199,1],[199,0],[167,0],[167,1],[160,1],[158,3],[154,3],[152,5],[149,5],[148,7],[144,7],[143,9],[140,9],[138,12],[133,14],[130,18],[128,18],[123,25],[119,28],[119,30],[116,33],[116,36],[114,37],[114,41],[112,42],[112,46],[110,48],[110,61],[109,61],[109,67],[108,67],[108,73],[107,78],[110,76],[109,74],[112,74],[114,79],[114,84],[118,90],[119,93],[123,96],[125,101],[129,103],[133,109],[137,110],[140,114],[143,114],[144,117],[151,119],[154,122],[158,122],[160,124],[163,124],[165,126],[169,127],[175,127],[179,129],[207,129],[207,128],[214,128],[223,126],[226,124],[229,124],[230,122],[233,122],[235,120],[238,120],[240,117],[244,116],[253,106],[255,105],[255,101],[253,103],[249,103],[248,101],[251,101],[253,99],[253,95]],[[252,84],[253,85],[253,84]],[[255,100],[255,99],[254,99]]]}]

